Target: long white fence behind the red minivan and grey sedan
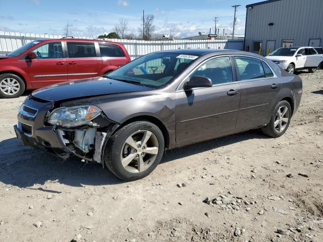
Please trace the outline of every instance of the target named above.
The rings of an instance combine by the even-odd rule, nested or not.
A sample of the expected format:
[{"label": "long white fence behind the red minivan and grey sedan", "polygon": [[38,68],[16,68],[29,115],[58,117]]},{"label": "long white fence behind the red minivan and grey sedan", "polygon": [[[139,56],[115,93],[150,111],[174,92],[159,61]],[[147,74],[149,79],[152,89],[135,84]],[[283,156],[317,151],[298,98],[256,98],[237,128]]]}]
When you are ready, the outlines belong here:
[{"label": "long white fence behind the red minivan and grey sedan", "polygon": [[[9,53],[28,42],[35,39],[52,38],[60,39],[61,35],[19,33],[0,31],[0,54]],[[88,37],[75,37],[79,39],[90,39]],[[217,39],[217,40],[163,40],[163,41],[144,41],[144,40],[128,40],[128,39],[105,39],[124,44],[131,59],[141,55],[148,54],[159,50],[168,49],[187,49],[187,48],[212,48],[212,49],[238,49],[243,50],[242,39]]]}]

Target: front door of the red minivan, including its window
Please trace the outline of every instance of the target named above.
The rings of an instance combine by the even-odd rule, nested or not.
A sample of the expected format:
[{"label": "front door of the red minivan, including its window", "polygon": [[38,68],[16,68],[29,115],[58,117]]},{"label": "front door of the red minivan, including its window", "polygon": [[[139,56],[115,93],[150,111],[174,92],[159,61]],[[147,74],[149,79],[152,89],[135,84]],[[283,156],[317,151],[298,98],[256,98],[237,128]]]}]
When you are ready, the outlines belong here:
[{"label": "front door of the red minivan, including its window", "polygon": [[26,61],[33,88],[67,81],[66,58],[62,42],[49,42],[35,48],[37,57]]}]

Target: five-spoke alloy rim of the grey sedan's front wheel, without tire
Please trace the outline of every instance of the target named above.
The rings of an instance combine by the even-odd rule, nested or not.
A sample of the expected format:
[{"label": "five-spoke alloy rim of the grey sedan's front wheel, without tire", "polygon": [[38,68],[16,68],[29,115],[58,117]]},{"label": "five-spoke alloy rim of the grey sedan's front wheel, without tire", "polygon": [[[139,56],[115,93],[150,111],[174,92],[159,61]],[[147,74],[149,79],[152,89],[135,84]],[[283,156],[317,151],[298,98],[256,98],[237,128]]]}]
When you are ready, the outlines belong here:
[{"label": "five-spoke alloy rim of the grey sedan's front wheel, without tire", "polygon": [[122,166],[131,173],[143,172],[155,161],[158,154],[158,140],[148,130],[133,133],[121,150]]}]

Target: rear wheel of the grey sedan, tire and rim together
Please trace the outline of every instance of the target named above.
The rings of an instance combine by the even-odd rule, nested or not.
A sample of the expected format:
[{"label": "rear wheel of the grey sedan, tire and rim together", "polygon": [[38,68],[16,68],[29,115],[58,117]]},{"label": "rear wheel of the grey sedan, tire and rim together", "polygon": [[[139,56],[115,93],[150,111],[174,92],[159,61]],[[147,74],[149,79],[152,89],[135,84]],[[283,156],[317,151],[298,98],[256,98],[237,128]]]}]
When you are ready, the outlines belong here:
[{"label": "rear wheel of the grey sedan, tire and rim together", "polygon": [[[286,109],[284,107],[286,107]],[[285,112],[285,110],[286,112],[284,115],[279,116],[279,110],[281,113]],[[291,122],[291,117],[292,108],[289,102],[286,100],[280,101],[275,107],[270,123],[261,129],[262,133],[274,138],[282,136],[288,129],[289,123]],[[288,118],[288,120],[286,118]],[[282,120],[282,122],[280,122],[280,120]]]}]

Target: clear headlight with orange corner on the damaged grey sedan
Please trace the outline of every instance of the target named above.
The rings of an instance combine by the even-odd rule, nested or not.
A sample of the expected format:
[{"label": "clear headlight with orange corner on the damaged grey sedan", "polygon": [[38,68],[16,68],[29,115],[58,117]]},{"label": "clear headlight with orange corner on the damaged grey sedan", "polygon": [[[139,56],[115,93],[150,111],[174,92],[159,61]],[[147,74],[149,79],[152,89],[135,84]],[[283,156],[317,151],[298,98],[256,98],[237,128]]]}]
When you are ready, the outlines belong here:
[{"label": "clear headlight with orange corner on the damaged grey sedan", "polygon": [[89,124],[100,112],[96,106],[60,107],[50,113],[47,122],[67,128],[77,127]]}]

